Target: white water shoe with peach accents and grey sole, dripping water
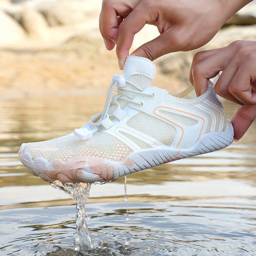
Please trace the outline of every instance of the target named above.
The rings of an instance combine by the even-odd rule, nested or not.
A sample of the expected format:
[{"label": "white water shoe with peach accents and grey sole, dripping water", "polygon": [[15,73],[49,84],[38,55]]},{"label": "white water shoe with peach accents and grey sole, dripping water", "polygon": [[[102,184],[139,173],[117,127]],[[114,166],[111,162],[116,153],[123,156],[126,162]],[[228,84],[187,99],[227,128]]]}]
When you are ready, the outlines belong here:
[{"label": "white water shoe with peach accents and grey sole, dripping water", "polygon": [[27,171],[49,182],[106,182],[232,143],[232,124],[211,82],[198,98],[192,85],[169,95],[151,86],[154,75],[152,61],[128,56],[102,113],[72,134],[22,144]]}]

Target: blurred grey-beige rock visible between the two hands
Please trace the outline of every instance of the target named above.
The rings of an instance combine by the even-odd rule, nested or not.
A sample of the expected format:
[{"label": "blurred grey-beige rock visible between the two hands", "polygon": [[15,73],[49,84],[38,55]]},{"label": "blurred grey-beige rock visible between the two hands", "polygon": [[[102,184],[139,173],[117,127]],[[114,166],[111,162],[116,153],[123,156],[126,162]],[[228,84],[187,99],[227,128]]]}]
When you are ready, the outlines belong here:
[{"label": "blurred grey-beige rock visible between the two hands", "polygon": [[189,52],[173,52],[158,59],[161,72],[173,74],[177,79],[189,84],[188,75],[190,65],[196,52],[207,49],[221,48],[236,40],[255,40],[256,25],[227,27],[221,29],[217,35],[204,47]]}]

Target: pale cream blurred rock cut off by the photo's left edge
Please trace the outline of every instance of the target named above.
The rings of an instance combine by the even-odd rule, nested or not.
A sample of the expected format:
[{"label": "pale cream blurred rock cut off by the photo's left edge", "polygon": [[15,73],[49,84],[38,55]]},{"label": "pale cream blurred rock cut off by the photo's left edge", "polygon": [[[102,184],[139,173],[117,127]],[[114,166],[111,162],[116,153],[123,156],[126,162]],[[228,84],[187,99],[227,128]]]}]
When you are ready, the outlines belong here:
[{"label": "pale cream blurred rock cut off by the photo's left edge", "polygon": [[25,38],[23,28],[8,14],[0,11],[0,45],[6,46],[9,43],[21,41]]}]

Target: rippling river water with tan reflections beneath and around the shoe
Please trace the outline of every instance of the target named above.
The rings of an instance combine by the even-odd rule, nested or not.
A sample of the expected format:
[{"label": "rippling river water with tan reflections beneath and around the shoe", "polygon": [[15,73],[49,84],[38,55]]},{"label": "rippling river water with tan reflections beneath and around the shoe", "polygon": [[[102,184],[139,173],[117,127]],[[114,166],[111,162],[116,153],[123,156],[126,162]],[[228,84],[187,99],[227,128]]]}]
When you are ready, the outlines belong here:
[{"label": "rippling river water with tan reflections beneath and around the shoe", "polygon": [[[29,174],[23,142],[81,127],[105,96],[0,101],[0,256],[256,255],[256,123],[218,152],[93,184],[87,226],[98,247],[73,247],[74,200]],[[236,105],[224,102],[232,117]]]}]

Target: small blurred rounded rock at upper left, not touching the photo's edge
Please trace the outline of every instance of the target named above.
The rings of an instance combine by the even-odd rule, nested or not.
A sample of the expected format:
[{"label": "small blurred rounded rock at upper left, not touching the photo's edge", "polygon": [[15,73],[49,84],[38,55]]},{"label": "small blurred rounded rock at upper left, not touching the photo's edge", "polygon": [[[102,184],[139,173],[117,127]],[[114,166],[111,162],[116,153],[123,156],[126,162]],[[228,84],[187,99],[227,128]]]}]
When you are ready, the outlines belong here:
[{"label": "small blurred rounded rock at upper left, not touching the photo's edge", "polygon": [[48,24],[44,16],[35,10],[25,8],[15,15],[24,30],[32,37],[46,37]]}]

